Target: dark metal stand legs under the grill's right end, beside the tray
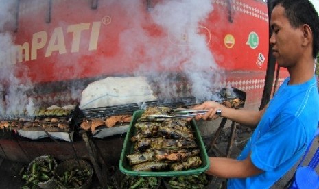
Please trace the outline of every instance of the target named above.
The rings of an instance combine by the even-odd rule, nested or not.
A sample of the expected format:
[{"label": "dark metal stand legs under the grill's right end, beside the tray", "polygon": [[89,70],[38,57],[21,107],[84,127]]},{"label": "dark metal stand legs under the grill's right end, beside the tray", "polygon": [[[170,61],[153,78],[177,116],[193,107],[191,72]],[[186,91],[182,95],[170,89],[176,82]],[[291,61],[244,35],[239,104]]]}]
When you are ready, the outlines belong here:
[{"label": "dark metal stand legs under the grill's right end, beside the tray", "polygon": [[218,147],[216,145],[217,138],[222,133],[222,129],[224,129],[226,121],[227,121],[227,118],[222,118],[222,121],[220,122],[220,127],[218,127],[217,131],[215,132],[215,135],[214,135],[213,139],[211,140],[211,144],[209,145],[209,149],[207,149],[207,151],[209,151],[211,148],[213,148],[213,150],[216,151],[217,153],[219,153],[222,157],[231,157],[231,149],[233,147],[235,134],[236,134],[235,121],[231,122],[231,138],[228,141],[226,153],[223,153],[222,151],[220,151],[220,149],[218,149]]}]

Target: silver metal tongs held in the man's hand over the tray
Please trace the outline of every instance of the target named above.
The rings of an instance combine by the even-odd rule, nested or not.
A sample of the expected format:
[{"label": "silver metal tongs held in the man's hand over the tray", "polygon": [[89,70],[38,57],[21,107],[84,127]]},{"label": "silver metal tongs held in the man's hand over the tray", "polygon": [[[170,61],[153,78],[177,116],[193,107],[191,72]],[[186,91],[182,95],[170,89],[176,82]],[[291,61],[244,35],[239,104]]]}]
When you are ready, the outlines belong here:
[{"label": "silver metal tongs held in the man's hand over the tray", "polygon": [[165,114],[153,114],[147,116],[149,121],[164,121],[166,118],[190,118],[195,117],[197,114],[206,114],[208,110],[193,110],[185,108],[173,109],[173,114],[178,115],[165,115]]}]

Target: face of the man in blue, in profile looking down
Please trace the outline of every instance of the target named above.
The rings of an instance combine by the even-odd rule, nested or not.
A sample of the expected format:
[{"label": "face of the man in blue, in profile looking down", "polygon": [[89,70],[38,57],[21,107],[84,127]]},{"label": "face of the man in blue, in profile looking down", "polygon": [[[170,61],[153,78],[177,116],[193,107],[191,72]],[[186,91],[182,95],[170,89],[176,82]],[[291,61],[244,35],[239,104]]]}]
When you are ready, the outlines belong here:
[{"label": "face of the man in blue, in profile looking down", "polygon": [[285,9],[281,5],[277,5],[272,10],[270,26],[273,30],[270,44],[276,62],[285,68],[294,66],[303,54],[302,27],[294,28],[290,25],[285,16]]}]

